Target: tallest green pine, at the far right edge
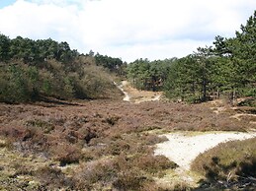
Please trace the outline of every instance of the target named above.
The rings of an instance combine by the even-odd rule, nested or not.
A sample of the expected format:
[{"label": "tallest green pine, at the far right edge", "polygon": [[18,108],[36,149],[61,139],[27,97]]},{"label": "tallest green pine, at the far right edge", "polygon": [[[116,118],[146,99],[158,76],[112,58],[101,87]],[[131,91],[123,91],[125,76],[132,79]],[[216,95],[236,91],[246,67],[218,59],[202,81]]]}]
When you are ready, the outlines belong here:
[{"label": "tallest green pine, at the far right edge", "polygon": [[216,36],[213,42],[214,54],[221,57],[217,59],[217,83],[232,100],[236,96],[255,96],[256,11],[240,30],[235,37]]}]

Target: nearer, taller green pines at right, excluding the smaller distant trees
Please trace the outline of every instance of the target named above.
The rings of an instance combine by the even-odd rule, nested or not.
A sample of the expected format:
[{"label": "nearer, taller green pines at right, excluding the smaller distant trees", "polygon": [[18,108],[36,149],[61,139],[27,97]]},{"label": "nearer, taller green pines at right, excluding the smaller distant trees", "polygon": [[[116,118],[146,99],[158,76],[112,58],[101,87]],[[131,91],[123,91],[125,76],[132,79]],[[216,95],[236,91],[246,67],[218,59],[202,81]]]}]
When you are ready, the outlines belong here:
[{"label": "nearer, taller green pines at right, excluding the smaller distant trees", "polygon": [[166,96],[189,102],[255,96],[255,36],[256,11],[235,37],[217,35],[214,47],[198,48],[173,64],[165,82]]}]

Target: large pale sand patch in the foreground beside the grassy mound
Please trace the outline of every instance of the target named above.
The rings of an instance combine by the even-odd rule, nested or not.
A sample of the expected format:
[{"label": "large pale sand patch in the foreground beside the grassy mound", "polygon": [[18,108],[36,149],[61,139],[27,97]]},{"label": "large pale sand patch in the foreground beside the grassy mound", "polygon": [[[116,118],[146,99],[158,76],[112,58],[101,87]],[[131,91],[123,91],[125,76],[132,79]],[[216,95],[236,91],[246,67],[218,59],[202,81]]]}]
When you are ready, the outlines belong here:
[{"label": "large pale sand patch in the foreground beside the grassy mound", "polygon": [[191,135],[188,132],[171,133],[164,136],[169,141],[157,144],[155,155],[163,155],[176,162],[181,168],[189,170],[191,162],[198,155],[215,147],[219,143],[249,139],[256,137],[256,133],[208,132]]}]

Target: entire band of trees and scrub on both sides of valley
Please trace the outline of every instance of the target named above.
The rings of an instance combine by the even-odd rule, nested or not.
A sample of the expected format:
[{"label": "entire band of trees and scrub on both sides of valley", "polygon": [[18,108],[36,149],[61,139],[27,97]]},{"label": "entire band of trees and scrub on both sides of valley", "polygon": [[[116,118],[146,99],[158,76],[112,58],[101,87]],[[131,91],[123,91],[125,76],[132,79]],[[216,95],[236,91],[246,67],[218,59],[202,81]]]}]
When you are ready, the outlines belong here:
[{"label": "entire band of trees and scrub on both sides of valley", "polygon": [[217,35],[213,46],[179,59],[129,64],[93,51],[80,54],[67,42],[0,33],[0,101],[106,96],[115,89],[108,72],[127,76],[139,90],[163,91],[182,101],[256,96],[256,11],[234,37]]}]

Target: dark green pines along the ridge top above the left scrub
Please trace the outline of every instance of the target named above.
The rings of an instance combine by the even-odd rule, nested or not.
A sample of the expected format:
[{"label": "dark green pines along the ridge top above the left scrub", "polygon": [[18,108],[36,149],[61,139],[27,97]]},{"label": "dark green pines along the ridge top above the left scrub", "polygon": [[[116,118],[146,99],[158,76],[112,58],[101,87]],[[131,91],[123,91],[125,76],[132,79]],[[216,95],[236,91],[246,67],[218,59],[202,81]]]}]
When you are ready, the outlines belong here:
[{"label": "dark green pines along the ridge top above the left scrub", "polygon": [[1,62],[17,59],[32,65],[54,59],[67,63],[72,62],[78,55],[77,50],[71,50],[65,41],[59,43],[51,38],[33,40],[22,36],[10,39],[8,36],[0,34]]}]

